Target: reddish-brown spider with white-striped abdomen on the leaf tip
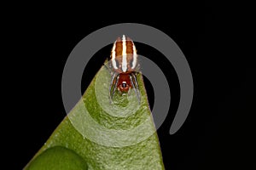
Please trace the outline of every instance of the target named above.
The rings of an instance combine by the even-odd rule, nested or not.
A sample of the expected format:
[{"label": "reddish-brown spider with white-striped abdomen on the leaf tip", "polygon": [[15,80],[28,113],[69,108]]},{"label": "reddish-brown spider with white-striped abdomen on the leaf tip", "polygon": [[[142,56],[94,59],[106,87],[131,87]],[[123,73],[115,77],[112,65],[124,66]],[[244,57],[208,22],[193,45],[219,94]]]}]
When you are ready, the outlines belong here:
[{"label": "reddish-brown spider with white-striped abdomen on the leaf tip", "polygon": [[136,73],[138,70],[137,50],[131,38],[118,37],[113,43],[110,56],[110,67],[113,71],[112,81],[109,88],[109,95],[112,99],[116,88],[121,94],[127,93],[129,89],[134,88],[138,101],[140,93],[137,83]]}]

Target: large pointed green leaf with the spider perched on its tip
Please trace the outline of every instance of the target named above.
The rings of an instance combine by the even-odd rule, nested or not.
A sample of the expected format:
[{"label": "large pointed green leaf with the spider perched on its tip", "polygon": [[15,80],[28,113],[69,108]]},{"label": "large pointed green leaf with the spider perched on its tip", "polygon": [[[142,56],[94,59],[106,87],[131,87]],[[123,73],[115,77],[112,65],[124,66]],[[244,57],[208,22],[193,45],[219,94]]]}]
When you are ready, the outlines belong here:
[{"label": "large pointed green leaf with the spider perched on its tip", "polygon": [[141,74],[141,102],[129,94],[108,97],[104,66],[82,99],[25,169],[165,169]]}]

